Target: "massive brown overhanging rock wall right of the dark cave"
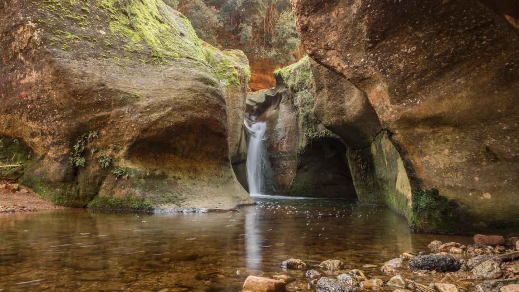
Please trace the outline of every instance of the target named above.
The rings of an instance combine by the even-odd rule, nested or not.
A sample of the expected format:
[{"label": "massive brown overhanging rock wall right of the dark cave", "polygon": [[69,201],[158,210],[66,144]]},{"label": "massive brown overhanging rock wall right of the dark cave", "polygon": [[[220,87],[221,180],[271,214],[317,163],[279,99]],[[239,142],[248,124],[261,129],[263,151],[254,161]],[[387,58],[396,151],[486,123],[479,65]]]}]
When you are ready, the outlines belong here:
[{"label": "massive brown overhanging rock wall right of the dark cave", "polygon": [[[378,119],[380,128],[391,133],[392,160],[397,166],[402,160],[404,171],[395,180],[373,174],[379,163],[373,162],[378,159],[373,152],[364,150],[351,159],[350,168],[368,170],[361,175],[352,171],[359,200],[359,189],[371,188],[374,180],[386,196],[401,200],[392,207],[417,228],[466,231],[518,224],[517,20],[485,5],[507,4],[291,3],[307,53],[333,71],[330,75],[347,79],[337,85],[342,92],[334,93],[333,87],[325,92],[331,82],[316,77],[318,92],[324,92],[317,95],[327,95],[318,104],[334,104],[347,92],[344,108],[351,103],[356,109],[345,115],[337,107],[328,116],[318,110],[325,126],[350,149],[362,152]],[[325,69],[314,70],[315,75],[320,71]],[[372,114],[355,115],[362,111]],[[359,127],[360,117],[371,117],[371,126]],[[393,190],[402,196],[393,196]]]}]

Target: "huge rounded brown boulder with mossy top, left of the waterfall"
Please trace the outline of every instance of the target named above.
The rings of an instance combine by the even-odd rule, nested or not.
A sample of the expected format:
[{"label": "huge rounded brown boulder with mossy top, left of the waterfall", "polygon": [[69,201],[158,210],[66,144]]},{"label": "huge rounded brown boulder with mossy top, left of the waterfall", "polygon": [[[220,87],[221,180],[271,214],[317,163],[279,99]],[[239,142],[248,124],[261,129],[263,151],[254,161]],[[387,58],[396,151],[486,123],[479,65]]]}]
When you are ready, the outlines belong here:
[{"label": "huge rounded brown boulder with mossy top, left of the waterfall", "polygon": [[0,135],[30,149],[21,182],[69,206],[252,203],[229,160],[235,66],[161,1],[87,2],[0,3]]}]

